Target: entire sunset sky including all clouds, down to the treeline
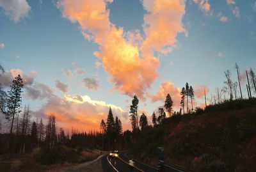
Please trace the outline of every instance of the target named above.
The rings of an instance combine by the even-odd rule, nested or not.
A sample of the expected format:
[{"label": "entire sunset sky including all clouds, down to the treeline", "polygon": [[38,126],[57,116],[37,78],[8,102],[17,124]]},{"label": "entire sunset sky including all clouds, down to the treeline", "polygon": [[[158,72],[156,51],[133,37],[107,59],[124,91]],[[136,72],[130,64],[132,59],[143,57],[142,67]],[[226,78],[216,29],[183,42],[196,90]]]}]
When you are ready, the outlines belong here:
[{"label": "entire sunset sky including all clouds, down to the treeline", "polygon": [[235,63],[247,97],[255,54],[255,0],[0,0],[4,90],[22,75],[22,107],[66,130],[99,130],[109,107],[131,129],[134,95],[148,121],[167,93],[178,111],[186,82],[204,108]]}]

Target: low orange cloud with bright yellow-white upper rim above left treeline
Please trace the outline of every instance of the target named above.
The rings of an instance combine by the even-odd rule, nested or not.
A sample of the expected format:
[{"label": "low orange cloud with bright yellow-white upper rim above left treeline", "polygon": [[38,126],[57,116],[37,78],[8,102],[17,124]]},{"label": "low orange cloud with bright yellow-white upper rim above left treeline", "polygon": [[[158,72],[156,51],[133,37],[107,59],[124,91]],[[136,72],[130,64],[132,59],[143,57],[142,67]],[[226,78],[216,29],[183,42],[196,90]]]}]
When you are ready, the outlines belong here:
[{"label": "low orange cloud with bright yellow-white upper rim above left treeline", "polygon": [[47,103],[35,112],[36,116],[55,114],[57,126],[68,130],[72,127],[79,131],[99,130],[100,121],[106,121],[109,107],[114,116],[122,120],[123,128],[130,129],[129,115],[118,106],[107,104],[99,100],[92,100],[89,96],[50,97]]}]

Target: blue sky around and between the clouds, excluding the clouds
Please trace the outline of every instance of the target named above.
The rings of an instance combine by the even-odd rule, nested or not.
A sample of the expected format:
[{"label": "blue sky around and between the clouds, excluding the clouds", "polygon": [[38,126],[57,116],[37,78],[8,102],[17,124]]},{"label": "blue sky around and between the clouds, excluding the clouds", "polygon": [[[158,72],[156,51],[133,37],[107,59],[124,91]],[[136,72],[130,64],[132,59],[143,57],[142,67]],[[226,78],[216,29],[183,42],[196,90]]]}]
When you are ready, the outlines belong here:
[{"label": "blue sky around and between the clouds, excluding the clouds", "polygon": [[[63,17],[62,8],[69,8],[69,6],[63,5],[62,8],[58,8],[57,4],[61,1],[23,0],[21,2],[27,5],[27,8],[24,8],[17,5],[18,1],[21,0],[0,1],[0,63],[4,66],[6,73],[10,73],[11,69],[20,69],[22,74],[28,75],[34,70],[36,75],[33,84],[29,87],[34,86],[39,89],[35,84],[40,82],[49,86],[53,90],[52,95],[60,99],[65,96],[88,95],[92,100],[113,104],[124,111],[116,110],[116,113],[129,112],[127,106],[131,104],[132,98],[128,95],[133,95],[134,92],[125,93],[117,90],[115,88],[117,81],[109,81],[108,77],[112,76],[111,73],[106,70],[107,67],[102,64],[102,60],[93,55],[95,51],[100,51],[99,42],[86,40],[82,35],[81,23],[71,22],[71,17]],[[175,48],[166,54],[154,52],[159,59],[159,68],[156,68],[158,77],[150,82],[147,90],[144,90],[145,101],[141,100],[139,104],[141,111],[146,111],[148,115],[163,105],[163,96],[161,97],[159,92],[163,82],[173,84],[170,89],[174,90],[168,90],[167,87],[162,89],[163,93],[170,92],[171,96],[188,82],[194,87],[209,88],[210,92],[207,96],[211,97],[211,94],[215,94],[216,87],[221,89],[224,86],[225,70],[230,69],[232,79],[236,81],[234,68],[236,62],[241,69],[241,74],[250,67],[256,71],[255,0],[191,0],[184,1],[183,5],[185,10],[180,16],[182,20],[179,24],[185,31],[177,32],[175,43],[166,44],[172,46],[175,44]],[[16,13],[20,10],[19,19],[13,19],[15,12],[10,12],[10,6],[16,7],[13,8]],[[146,39],[147,34],[143,31],[143,17],[145,13],[150,12],[143,7],[143,1],[114,0],[106,6],[111,24],[115,24],[116,28],[123,27],[124,33],[137,29],[143,39]],[[236,12],[234,12],[235,9]],[[170,28],[170,31],[172,29]],[[99,68],[95,67],[96,61],[101,63]],[[74,70],[78,68],[86,74],[76,74]],[[72,72],[70,79],[64,74],[64,69]],[[97,81],[97,86],[95,82],[91,83],[92,80],[86,80],[87,83],[90,82],[92,88],[88,88],[88,85],[83,86],[85,78]],[[68,91],[63,92],[56,88],[56,80],[67,85]],[[131,82],[136,84],[136,81]],[[202,92],[202,90],[198,91]],[[243,93],[246,97],[244,84]],[[44,116],[49,112],[45,110],[47,108],[51,109],[52,113],[58,113],[57,109],[49,105],[51,102],[49,97],[31,98],[26,89],[24,97],[26,98],[23,104],[29,104],[38,116]],[[155,102],[152,102],[152,97],[155,97]],[[173,95],[173,98],[177,99],[177,97],[178,95]],[[198,106],[200,102],[204,102],[198,97],[195,97],[195,100]],[[177,106],[176,109],[178,108]],[[104,111],[98,109],[96,112],[107,113],[106,109],[108,108]],[[43,110],[44,113],[38,113]],[[72,115],[76,114],[66,114],[65,117],[71,118]],[[91,118],[86,113],[83,116]],[[128,125],[129,120],[124,116],[120,115],[120,118]],[[102,118],[105,117],[102,116]],[[65,125],[65,120],[62,125]]]}]

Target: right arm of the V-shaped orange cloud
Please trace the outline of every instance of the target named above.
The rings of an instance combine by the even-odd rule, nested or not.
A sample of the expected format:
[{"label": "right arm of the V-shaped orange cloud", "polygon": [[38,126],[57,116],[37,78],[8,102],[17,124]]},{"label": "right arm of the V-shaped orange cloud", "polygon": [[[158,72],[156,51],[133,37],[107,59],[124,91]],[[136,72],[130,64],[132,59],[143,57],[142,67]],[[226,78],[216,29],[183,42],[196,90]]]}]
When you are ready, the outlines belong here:
[{"label": "right arm of the V-shaped orange cloud", "polygon": [[143,6],[148,14],[144,16],[146,39],[142,52],[151,56],[153,50],[163,54],[172,51],[177,47],[177,34],[185,31],[182,26],[185,1],[145,0]]}]

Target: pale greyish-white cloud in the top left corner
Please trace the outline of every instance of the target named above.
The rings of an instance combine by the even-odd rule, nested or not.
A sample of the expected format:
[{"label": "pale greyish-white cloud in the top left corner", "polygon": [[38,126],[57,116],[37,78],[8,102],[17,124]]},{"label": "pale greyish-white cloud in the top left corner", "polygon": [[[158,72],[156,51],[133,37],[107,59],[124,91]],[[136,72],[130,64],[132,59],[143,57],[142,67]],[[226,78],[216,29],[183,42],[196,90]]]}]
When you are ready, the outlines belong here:
[{"label": "pale greyish-white cloud in the top left corner", "polygon": [[31,9],[26,0],[0,0],[0,6],[4,9],[5,15],[10,16],[15,23],[23,17],[28,17]]}]

